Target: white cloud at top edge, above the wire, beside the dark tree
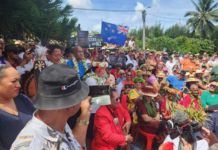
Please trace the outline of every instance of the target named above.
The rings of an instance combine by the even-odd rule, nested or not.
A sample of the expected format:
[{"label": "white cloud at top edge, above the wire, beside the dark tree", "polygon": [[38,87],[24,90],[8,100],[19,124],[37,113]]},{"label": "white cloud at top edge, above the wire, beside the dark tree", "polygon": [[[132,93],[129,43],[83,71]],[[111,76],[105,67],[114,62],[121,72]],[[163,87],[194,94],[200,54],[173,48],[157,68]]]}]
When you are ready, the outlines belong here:
[{"label": "white cloud at top edge, above the wire, beside the dark tree", "polygon": [[68,0],[68,3],[75,8],[92,8],[91,0]]}]

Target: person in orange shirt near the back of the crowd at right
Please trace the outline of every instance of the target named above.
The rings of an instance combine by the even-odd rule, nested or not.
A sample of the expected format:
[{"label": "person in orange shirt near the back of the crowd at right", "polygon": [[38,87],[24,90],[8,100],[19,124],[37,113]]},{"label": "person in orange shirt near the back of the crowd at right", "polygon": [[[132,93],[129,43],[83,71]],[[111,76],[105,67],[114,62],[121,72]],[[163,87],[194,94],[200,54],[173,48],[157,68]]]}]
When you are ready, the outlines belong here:
[{"label": "person in orange shirt near the back of the crowd at right", "polygon": [[199,66],[198,61],[193,58],[193,54],[190,54],[189,59],[185,59],[182,62],[181,69],[188,71],[190,66],[193,67],[194,72],[197,70],[197,67]]}]

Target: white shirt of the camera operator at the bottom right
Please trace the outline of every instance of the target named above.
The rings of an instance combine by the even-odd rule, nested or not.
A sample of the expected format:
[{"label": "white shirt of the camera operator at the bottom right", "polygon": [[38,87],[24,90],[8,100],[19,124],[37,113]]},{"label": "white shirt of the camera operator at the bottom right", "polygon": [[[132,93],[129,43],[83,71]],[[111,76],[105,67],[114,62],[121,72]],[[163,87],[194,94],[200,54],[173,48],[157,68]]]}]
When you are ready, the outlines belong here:
[{"label": "white shirt of the camera operator at the bottom right", "polygon": [[[179,137],[172,140],[170,136],[168,135],[167,138],[164,140],[164,143],[167,143],[167,142],[173,143],[173,149],[178,150],[179,141],[180,141]],[[206,140],[203,139],[203,140],[197,141],[197,150],[207,150],[208,148],[209,146]]]}]

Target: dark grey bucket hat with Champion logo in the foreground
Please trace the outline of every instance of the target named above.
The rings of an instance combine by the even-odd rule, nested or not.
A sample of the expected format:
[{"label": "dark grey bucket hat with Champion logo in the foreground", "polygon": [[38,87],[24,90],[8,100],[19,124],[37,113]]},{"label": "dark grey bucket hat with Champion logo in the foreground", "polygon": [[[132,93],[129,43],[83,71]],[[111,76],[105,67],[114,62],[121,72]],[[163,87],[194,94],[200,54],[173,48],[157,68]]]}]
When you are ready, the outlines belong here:
[{"label": "dark grey bucket hat with Champion logo in the foreground", "polygon": [[38,91],[33,98],[33,106],[37,109],[69,108],[82,102],[89,93],[89,86],[68,65],[51,65],[42,71],[38,80]]}]

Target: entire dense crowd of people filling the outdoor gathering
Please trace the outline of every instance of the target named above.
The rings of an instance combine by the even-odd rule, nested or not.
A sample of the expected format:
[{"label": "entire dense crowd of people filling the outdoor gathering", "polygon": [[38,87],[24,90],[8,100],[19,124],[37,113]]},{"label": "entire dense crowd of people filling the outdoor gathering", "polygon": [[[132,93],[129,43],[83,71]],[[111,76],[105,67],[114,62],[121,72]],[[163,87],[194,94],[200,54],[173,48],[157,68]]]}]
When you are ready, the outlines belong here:
[{"label": "entire dense crowd of people filling the outdoor gathering", "polygon": [[[131,144],[137,125],[162,150],[177,106],[208,112],[218,104],[217,54],[142,51],[134,37],[123,47],[105,45],[64,49],[1,40],[0,149],[140,150]],[[126,65],[112,66],[114,55]],[[92,85],[110,85],[110,105],[90,104]],[[213,123],[202,129],[207,148],[218,143],[218,112],[209,112]]]}]

